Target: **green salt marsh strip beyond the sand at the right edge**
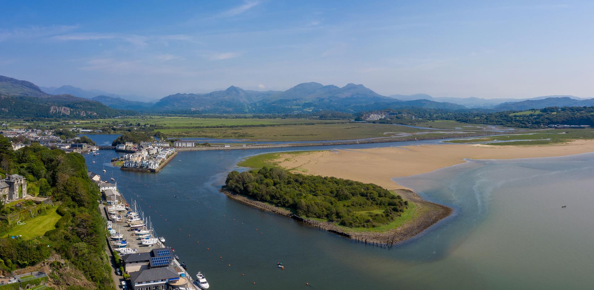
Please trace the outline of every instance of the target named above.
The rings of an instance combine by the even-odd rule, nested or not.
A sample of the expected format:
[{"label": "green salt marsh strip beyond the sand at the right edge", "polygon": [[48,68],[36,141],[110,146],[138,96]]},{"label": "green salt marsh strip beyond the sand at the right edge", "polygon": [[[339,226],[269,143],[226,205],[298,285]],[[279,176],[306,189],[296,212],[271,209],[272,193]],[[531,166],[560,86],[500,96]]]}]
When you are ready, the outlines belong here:
[{"label": "green salt marsh strip beyond the sand at the right edge", "polygon": [[[567,132],[567,133],[566,133]],[[509,134],[503,136],[493,136],[485,138],[472,138],[465,140],[450,140],[446,143],[481,143],[488,141],[508,141],[489,143],[491,145],[546,145],[563,144],[571,140],[594,139],[594,130],[592,129],[556,129],[534,134]],[[530,140],[530,141],[514,141]]]}]

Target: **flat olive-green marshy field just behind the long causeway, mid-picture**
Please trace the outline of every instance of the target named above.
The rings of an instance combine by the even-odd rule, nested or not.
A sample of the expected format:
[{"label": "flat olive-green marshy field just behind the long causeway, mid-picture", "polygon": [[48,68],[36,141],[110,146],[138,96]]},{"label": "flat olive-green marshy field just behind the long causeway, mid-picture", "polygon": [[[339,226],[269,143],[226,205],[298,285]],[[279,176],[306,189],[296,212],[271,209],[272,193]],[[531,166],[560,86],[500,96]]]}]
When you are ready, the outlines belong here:
[{"label": "flat olive-green marshy field just behind the long causeway, mid-picture", "polygon": [[389,124],[345,123],[315,125],[285,125],[241,128],[168,128],[162,131],[175,137],[239,138],[270,141],[347,140],[390,137],[397,133],[427,131]]}]

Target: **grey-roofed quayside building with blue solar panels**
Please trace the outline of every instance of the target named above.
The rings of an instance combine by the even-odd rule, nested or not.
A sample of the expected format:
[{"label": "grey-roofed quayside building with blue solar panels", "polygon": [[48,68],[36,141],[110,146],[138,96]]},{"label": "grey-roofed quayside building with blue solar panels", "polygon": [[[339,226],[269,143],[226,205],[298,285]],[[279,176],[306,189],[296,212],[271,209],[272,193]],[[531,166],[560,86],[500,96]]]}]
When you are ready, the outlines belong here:
[{"label": "grey-roofed quayside building with blue solar panels", "polygon": [[[171,248],[133,253],[124,257],[124,269],[130,275],[134,290],[170,289],[184,280],[183,269],[173,266]],[[185,282],[184,282],[185,283]]]}]

